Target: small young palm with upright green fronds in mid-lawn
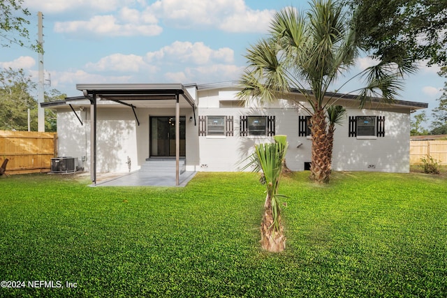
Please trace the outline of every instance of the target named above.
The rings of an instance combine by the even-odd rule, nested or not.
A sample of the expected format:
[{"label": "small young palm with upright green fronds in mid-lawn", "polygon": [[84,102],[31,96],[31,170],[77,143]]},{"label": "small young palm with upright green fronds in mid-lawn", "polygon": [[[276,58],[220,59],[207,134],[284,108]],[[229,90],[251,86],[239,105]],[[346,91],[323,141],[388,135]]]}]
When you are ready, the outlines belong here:
[{"label": "small young palm with upright green fronds in mid-lawn", "polygon": [[261,246],[266,251],[279,252],[286,248],[286,237],[281,225],[281,209],[279,198],[279,180],[288,147],[286,135],[275,135],[274,143],[258,144],[249,164],[256,165],[255,171],[261,170],[263,182],[267,188],[264,215],[261,223]]}]

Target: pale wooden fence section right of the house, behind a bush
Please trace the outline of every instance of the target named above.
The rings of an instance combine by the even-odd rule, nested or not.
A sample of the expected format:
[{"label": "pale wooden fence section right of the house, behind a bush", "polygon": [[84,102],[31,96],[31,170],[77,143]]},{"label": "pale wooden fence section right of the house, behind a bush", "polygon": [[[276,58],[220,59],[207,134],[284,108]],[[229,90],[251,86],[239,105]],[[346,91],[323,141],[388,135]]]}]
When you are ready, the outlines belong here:
[{"label": "pale wooden fence section right of the house, behind a bush", "polygon": [[420,165],[420,158],[427,155],[436,159],[440,165],[447,165],[447,140],[411,140],[410,165]]}]

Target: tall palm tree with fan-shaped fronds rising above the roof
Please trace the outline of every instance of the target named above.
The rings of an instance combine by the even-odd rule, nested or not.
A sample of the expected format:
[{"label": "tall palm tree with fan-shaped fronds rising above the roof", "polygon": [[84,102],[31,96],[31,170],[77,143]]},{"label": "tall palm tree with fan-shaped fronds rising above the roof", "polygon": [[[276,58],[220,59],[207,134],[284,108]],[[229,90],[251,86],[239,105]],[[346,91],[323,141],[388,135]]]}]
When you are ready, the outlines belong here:
[{"label": "tall palm tree with fan-shaped fronds rising above the roof", "polygon": [[[238,96],[242,100],[272,103],[292,88],[305,96],[309,105],[302,108],[312,115],[311,178],[318,182],[329,181],[325,107],[336,101],[325,94],[339,75],[355,64],[360,51],[350,17],[331,0],[313,0],[307,15],[284,8],[274,16],[270,36],[247,50],[248,66],[240,80],[243,89]],[[364,70],[361,75],[366,87],[356,90],[360,106],[372,95],[379,94],[386,101],[395,97],[402,74],[413,70],[405,60],[395,62],[381,61]]]}]

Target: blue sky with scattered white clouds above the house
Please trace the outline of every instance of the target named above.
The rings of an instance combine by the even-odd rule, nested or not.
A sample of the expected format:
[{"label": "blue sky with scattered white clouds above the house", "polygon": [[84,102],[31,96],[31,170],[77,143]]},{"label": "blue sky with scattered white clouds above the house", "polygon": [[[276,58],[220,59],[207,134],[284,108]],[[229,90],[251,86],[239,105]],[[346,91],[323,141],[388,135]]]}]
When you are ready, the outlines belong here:
[{"label": "blue sky with scattered white clouds above the house", "polygon": [[[46,89],[68,96],[81,95],[80,83],[238,80],[247,47],[265,36],[275,11],[290,5],[309,7],[302,0],[24,0],[31,38],[37,39],[38,11],[44,15]],[[38,80],[36,53],[18,46],[0,51],[0,67],[24,68]],[[360,58],[351,73],[371,63]],[[444,79],[439,67],[421,65],[399,99],[429,103],[430,114]]]}]

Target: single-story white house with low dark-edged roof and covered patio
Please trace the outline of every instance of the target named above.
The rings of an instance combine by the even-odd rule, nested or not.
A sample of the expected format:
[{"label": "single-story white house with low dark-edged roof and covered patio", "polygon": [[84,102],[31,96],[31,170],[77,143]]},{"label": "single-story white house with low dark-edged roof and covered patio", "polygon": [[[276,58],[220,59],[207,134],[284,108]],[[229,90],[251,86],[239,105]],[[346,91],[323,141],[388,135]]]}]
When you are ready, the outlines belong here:
[{"label": "single-story white house with low dark-edged roof and covered patio", "polygon": [[[150,158],[181,158],[188,171],[238,171],[254,144],[275,134],[288,136],[291,170],[307,170],[311,161],[309,114],[298,91],[260,107],[238,100],[235,82],[76,87],[82,96],[42,106],[57,111],[59,156],[78,158],[87,171],[127,172],[128,161],[138,170]],[[330,97],[347,110],[335,131],[333,170],[409,172],[410,113],[427,103],[373,98],[359,109],[355,96]]]}]

